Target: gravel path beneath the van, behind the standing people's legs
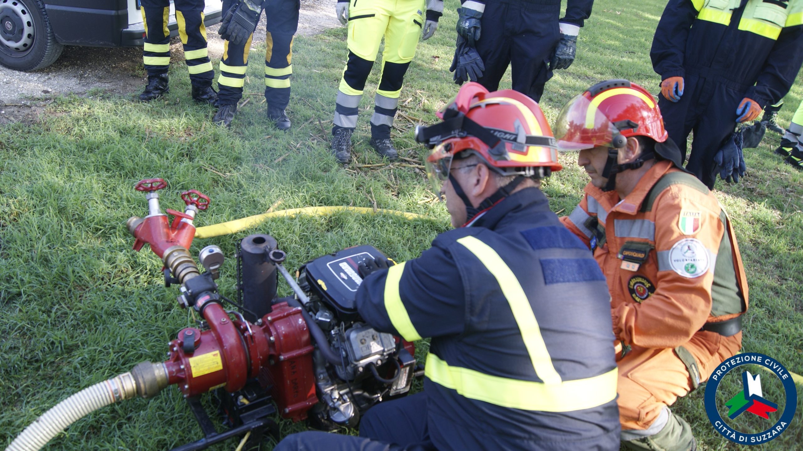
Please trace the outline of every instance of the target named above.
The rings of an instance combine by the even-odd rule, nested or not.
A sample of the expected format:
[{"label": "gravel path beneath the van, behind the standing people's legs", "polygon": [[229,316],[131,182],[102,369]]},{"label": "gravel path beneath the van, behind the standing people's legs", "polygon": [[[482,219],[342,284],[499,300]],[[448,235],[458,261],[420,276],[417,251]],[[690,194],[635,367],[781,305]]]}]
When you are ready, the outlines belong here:
[{"label": "gravel path beneath the van, behind the standing people's legs", "polygon": [[[265,41],[265,14],[257,26],[255,43]],[[210,57],[220,59],[223,41],[220,25],[207,29]],[[299,35],[316,35],[340,26],[334,0],[301,0]],[[173,59],[184,59],[178,38],[170,41]],[[92,88],[128,93],[139,91],[147,81],[142,69],[141,47],[64,47],[53,65],[41,71],[18,72],[0,66],[0,124],[35,121],[54,95],[85,94]]]}]

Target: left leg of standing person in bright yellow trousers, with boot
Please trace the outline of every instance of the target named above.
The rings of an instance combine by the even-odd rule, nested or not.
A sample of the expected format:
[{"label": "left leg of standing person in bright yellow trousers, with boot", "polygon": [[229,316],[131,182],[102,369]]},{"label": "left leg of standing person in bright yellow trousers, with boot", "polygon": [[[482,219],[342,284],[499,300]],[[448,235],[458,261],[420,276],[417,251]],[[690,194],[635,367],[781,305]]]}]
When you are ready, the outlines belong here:
[{"label": "left leg of standing person in bright yellow trousers, with boot", "polygon": [[351,161],[351,136],[357,128],[357,112],[365,89],[365,80],[371,73],[382,36],[388,27],[395,0],[376,0],[349,4],[349,60],[337,88],[334,126],[332,127],[332,153],[342,164]]}]

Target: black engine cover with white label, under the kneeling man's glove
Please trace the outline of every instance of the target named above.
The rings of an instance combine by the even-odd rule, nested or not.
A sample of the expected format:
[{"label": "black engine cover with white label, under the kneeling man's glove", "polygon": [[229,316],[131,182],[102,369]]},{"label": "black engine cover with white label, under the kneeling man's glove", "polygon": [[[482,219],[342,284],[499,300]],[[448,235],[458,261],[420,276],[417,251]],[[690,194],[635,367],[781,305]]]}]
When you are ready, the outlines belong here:
[{"label": "black engine cover with white label, under the kneeling man's glove", "polygon": [[324,255],[301,267],[310,291],[338,312],[341,319],[357,319],[355,297],[362,283],[357,263],[365,258],[386,258],[376,247],[355,246]]}]

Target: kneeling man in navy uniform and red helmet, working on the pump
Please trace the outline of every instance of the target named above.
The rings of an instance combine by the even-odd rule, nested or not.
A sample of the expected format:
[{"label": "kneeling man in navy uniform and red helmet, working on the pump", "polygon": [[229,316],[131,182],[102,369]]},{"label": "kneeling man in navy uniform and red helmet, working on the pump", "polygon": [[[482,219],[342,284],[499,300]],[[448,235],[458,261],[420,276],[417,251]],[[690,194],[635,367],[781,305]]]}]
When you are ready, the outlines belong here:
[{"label": "kneeling man in navy uniform and red helmet, working on the pump", "polygon": [[431,337],[424,391],[371,408],[361,437],[276,449],[617,451],[609,295],[539,189],[560,169],[548,122],[526,95],[478,83],[440,116],[416,137],[438,144],[427,170],[456,228],[419,258],[361,262],[357,291],[377,330]]}]

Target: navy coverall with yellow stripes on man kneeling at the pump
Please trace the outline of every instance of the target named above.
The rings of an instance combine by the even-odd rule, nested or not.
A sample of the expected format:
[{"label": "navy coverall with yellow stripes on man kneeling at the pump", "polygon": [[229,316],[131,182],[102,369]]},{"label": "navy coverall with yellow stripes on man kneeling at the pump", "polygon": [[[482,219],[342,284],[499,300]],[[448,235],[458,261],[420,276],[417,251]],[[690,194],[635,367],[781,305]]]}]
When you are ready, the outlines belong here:
[{"label": "navy coverall with yellow stripes on man kneeling at the pump", "polygon": [[379,331],[431,337],[424,392],[369,410],[361,437],[298,433],[277,450],[619,449],[605,277],[539,189],[369,274],[357,308]]}]

